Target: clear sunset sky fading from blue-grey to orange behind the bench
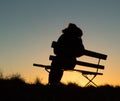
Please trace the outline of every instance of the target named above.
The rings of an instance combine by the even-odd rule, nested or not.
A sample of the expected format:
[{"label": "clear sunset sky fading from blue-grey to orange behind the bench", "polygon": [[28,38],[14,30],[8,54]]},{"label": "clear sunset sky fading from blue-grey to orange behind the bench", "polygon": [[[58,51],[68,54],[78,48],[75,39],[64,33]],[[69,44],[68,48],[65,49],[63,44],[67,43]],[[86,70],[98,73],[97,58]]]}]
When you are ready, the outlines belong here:
[{"label": "clear sunset sky fading from blue-grey to orange behind the bench", "polygon": [[[86,49],[108,55],[95,82],[120,85],[120,0],[0,0],[0,72],[47,83],[48,73],[33,63],[51,63],[51,43],[69,23],[83,30]],[[62,82],[71,81],[86,82],[65,72]]]}]

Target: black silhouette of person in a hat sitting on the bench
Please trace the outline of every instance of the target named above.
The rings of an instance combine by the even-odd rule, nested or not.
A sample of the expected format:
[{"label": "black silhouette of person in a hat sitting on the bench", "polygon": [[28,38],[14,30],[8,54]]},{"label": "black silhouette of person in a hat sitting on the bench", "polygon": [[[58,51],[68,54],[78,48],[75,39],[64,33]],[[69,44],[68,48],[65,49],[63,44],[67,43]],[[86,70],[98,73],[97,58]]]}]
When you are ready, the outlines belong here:
[{"label": "black silhouette of person in a hat sitting on the bench", "polygon": [[63,70],[74,69],[76,58],[84,53],[82,43],[82,30],[75,24],[70,23],[67,28],[62,30],[62,35],[54,48],[55,59],[52,60],[49,73],[49,84],[58,84],[62,78]]}]

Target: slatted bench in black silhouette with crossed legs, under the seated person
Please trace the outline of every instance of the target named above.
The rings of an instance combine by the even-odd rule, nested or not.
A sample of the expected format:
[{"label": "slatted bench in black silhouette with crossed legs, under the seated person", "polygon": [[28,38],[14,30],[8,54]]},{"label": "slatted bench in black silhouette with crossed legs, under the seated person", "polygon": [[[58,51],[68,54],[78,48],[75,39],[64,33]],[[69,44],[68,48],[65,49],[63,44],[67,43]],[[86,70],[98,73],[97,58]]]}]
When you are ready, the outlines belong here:
[{"label": "slatted bench in black silhouette with crossed legs, under the seated person", "polygon": [[[53,44],[52,44],[52,47],[55,47],[56,43],[53,42]],[[76,72],[82,73],[82,75],[88,80],[88,82],[85,84],[85,86],[88,86],[90,83],[92,83],[94,86],[97,86],[93,82],[93,79],[97,75],[103,75],[102,72],[99,72],[99,70],[104,70],[104,66],[100,65],[100,60],[106,60],[107,59],[107,55],[101,54],[101,53],[97,53],[97,52],[93,52],[93,51],[90,51],[90,50],[85,50],[84,55],[88,56],[88,57],[96,58],[96,59],[98,59],[98,62],[95,64],[95,63],[90,63],[90,62],[85,62],[85,61],[76,61],[76,65],[85,66],[85,67],[91,67],[91,68],[94,68],[95,71],[81,70],[81,69],[76,69],[76,68],[72,69],[72,70],[69,70],[69,71],[76,71]],[[51,55],[49,59],[50,60],[54,60],[55,58],[56,58],[56,56]],[[43,67],[47,71],[49,71],[49,69],[51,69],[50,65],[42,65],[42,64],[33,64],[33,65],[34,66],[38,66],[38,67]],[[68,70],[64,70],[64,71],[68,71]],[[92,75],[93,77],[89,78],[89,75]]]}]

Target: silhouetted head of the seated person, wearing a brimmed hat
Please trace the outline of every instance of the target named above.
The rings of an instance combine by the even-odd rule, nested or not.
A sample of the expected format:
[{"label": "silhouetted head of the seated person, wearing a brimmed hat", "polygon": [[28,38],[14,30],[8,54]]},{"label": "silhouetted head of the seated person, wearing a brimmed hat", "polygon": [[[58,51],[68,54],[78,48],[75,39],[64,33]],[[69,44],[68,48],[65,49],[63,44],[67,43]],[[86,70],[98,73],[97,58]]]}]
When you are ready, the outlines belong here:
[{"label": "silhouetted head of the seated person, wearing a brimmed hat", "polygon": [[68,27],[63,29],[62,32],[76,37],[81,37],[83,35],[82,30],[73,23],[69,23]]}]

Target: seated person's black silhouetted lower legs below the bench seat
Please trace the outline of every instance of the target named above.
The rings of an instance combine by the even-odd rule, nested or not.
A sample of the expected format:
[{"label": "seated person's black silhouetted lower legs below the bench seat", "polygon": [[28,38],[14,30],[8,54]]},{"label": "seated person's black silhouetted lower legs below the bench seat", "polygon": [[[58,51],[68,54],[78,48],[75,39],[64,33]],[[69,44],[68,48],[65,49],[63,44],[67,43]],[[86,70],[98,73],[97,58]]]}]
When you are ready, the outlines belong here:
[{"label": "seated person's black silhouetted lower legs below the bench seat", "polygon": [[60,80],[63,75],[63,70],[61,69],[51,69],[49,73],[49,84],[57,85],[60,83]]}]

